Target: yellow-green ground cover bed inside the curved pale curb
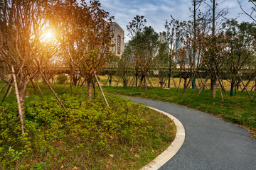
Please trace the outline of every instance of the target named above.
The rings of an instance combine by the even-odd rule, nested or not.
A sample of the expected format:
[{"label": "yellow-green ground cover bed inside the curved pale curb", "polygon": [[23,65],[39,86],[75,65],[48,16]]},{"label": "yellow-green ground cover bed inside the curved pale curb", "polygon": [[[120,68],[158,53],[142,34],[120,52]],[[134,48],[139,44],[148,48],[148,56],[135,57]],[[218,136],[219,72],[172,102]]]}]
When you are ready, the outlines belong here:
[{"label": "yellow-green ground cover bed inside the curved pale curb", "polygon": [[67,110],[28,88],[23,136],[14,94],[0,106],[0,169],[139,169],[174,140],[173,122],[141,104],[108,94],[107,108],[100,94],[90,103],[84,89],[53,88]]}]

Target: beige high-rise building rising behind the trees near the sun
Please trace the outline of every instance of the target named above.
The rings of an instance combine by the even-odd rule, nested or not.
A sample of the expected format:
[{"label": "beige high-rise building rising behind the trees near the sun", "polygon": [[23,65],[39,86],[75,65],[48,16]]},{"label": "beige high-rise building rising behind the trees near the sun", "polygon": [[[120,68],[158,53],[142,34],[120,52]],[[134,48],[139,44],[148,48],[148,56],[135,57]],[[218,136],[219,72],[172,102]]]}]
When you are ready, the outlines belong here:
[{"label": "beige high-rise building rising behind the trees near the sun", "polygon": [[114,33],[114,37],[112,38],[112,43],[114,44],[112,52],[121,57],[124,52],[124,30],[116,22],[111,23],[111,28]]}]

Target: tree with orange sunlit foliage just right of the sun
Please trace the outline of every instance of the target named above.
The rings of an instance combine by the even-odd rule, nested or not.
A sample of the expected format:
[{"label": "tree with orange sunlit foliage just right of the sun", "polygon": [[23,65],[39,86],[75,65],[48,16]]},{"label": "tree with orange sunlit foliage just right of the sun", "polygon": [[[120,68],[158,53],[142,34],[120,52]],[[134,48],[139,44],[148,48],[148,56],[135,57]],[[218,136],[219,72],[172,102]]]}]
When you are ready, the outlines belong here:
[{"label": "tree with orange sunlit foliage just right of the sun", "polygon": [[[63,8],[66,7],[66,8]],[[56,7],[55,26],[62,30],[59,38],[65,58],[75,74],[87,80],[92,101],[93,76],[110,60],[113,17],[101,8],[100,1],[64,1]],[[67,11],[68,10],[68,11]]]}]

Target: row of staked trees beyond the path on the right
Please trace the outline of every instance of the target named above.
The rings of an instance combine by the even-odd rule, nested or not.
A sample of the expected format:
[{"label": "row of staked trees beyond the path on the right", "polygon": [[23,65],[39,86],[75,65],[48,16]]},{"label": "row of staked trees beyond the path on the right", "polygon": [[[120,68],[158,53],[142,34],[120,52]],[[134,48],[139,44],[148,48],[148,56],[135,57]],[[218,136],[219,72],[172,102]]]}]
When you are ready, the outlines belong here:
[{"label": "row of staked trees beyond the path on the right", "polygon": [[[242,8],[241,2],[238,3]],[[242,11],[255,20],[255,1],[248,3],[252,4],[252,11],[249,13],[243,8]],[[238,23],[235,18],[226,18],[228,8],[221,8],[223,1],[192,0],[191,4],[190,21],[178,21],[174,16],[171,16],[171,21],[166,21],[166,43],[153,38],[157,35],[153,28],[145,26],[144,16],[136,16],[129,22],[127,29],[131,40],[120,63],[133,63],[129,68],[134,70],[134,86],[137,86],[139,79],[139,87],[144,84],[146,89],[149,71],[158,68],[159,84],[164,86],[168,80],[166,84],[170,87],[174,69],[178,68],[178,86],[173,82],[179,89],[183,79],[184,93],[188,86],[192,86],[198,90],[199,96],[210,80],[213,97],[215,90],[219,89],[223,98],[222,91],[226,95],[223,79],[226,79],[231,84],[230,96],[242,86],[242,91],[247,91],[253,100],[255,97],[249,93],[248,85],[256,81],[255,23]],[[202,8],[206,8],[206,11],[202,11]],[[123,64],[119,64],[119,67],[124,68]],[[128,68],[127,64],[125,67]],[[255,86],[253,88],[255,91]]]}]

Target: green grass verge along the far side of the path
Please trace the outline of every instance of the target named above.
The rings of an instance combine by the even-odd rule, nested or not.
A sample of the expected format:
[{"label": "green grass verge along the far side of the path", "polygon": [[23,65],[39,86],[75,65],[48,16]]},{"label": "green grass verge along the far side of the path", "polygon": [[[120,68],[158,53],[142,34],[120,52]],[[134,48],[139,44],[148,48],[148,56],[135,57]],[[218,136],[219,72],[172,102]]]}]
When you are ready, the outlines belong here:
[{"label": "green grass verge along the far side of the path", "polygon": [[[250,97],[247,96],[246,91],[238,91],[236,96],[227,96],[224,97],[224,101],[221,101],[219,91],[216,91],[216,98],[212,98],[210,90],[204,90],[197,97],[198,91],[196,89],[186,89],[185,94],[182,93],[183,89],[180,89],[181,92],[177,94],[177,89],[159,87],[147,91],[143,88],[140,90],[133,87],[104,86],[103,89],[112,94],[149,98],[195,108],[198,111],[216,115],[228,122],[242,125],[252,134],[256,132],[256,101],[250,102]],[[227,93],[229,94],[229,91]],[[252,137],[255,138],[255,135]]]}]

